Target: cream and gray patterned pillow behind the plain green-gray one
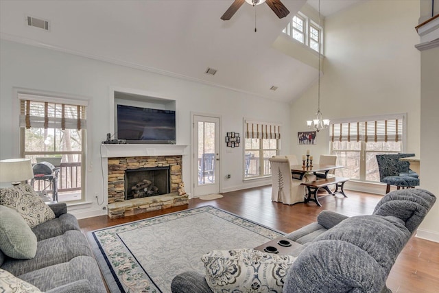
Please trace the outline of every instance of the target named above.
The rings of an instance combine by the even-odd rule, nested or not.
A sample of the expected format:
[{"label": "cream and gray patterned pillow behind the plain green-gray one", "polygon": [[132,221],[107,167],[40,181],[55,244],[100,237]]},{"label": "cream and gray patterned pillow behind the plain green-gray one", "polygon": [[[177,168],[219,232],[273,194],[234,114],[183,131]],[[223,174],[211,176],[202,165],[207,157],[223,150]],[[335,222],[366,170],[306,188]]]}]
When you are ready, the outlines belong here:
[{"label": "cream and gray patterned pillow behind the plain green-gray one", "polygon": [[55,218],[55,213],[28,184],[0,189],[0,204],[16,209],[29,227]]}]

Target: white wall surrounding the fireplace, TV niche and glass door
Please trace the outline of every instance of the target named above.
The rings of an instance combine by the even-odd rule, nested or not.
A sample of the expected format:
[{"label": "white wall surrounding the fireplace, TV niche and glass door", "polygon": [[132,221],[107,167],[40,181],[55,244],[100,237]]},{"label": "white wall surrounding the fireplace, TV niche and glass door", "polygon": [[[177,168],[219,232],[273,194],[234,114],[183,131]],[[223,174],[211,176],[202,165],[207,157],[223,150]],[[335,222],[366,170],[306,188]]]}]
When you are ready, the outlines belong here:
[{"label": "white wall surrounding the fireplace, TV niche and glass door", "polygon": [[[103,193],[99,147],[106,139],[106,133],[114,132],[114,114],[110,110],[112,89],[132,89],[137,93],[175,99],[177,143],[181,145],[191,145],[191,112],[221,115],[222,174],[219,178],[222,180],[222,190],[271,183],[271,180],[244,183],[243,148],[241,146],[233,148],[230,153],[226,152],[224,136],[230,131],[242,132],[243,117],[281,123],[287,130],[287,104],[41,47],[5,40],[1,40],[0,46],[0,159],[19,157],[19,109],[14,88],[62,93],[90,101],[87,113],[86,200],[92,203],[70,207],[70,211],[80,218],[105,213],[95,203],[94,195],[102,198]],[[288,135],[283,135],[281,148],[289,150]],[[183,181],[188,193],[193,182],[189,158],[185,156],[183,162]],[[226,174],[231,174],[231,178],[224,180]]]}]

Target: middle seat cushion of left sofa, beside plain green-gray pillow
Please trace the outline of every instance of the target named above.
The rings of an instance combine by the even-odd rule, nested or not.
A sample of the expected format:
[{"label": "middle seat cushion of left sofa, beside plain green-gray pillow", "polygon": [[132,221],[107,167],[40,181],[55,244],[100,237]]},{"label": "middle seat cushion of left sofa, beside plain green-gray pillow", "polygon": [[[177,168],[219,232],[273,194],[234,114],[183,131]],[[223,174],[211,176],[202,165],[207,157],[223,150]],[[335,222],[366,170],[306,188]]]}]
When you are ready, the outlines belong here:
[{"label": "middle seat cushion of left sofa, beside plain green-gray pillow", "polygon": [[86,237],[81,231],[67,231],[62,235],[38,242],[36,255],[33,259],[6,259],[2,268],[19,276],[33,270],[70,261],[80,255],[93,255]]}]

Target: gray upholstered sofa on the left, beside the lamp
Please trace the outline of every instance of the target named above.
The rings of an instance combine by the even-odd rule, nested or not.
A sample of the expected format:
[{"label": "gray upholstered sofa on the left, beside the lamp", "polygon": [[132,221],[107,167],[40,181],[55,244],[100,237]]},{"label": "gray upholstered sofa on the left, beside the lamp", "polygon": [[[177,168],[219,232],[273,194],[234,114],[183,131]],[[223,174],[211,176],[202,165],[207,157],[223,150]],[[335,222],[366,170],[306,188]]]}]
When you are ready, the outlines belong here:
[{"label": "gray upholstered sofa on the left, beside the lamp", "polygon": [[[12,193],[12,198],[17,194]],[[6,237],[9,237],[5,235],[22,237],[23,235],[14,235],[13,232],[14,229],[19,231],[18,224],[23,223],[16,209],[10,208],[11,202],[13,203],[13,200],[10,200],[11,197],[8,198],[7,193],[3,198],[1,196],[2,194],[0,194],[0,204],[2,204],[0,205],[2,213],[0,235],[3,236],[1,244],[5,245],[3,247],[5,250],[8,249],[8,253],[0,250],[0,289],[5,292],[15,292],[17,288],[23,292],[38,292],[38,290],[57,293],[106,292],[99,267],[88,246],[87,239],[80,231],[75,216],[67,213],[67,205],[64,203],[51,204],[49,207],[54,211],[55,218],[52,215],[51,220],[36,224],[32,231],[26,232],[28,235],[23,239],[29,239],[29,242],[32,242],[36,237],[36,247],[27,246],[26,241],[22,241],[23,246],[26,246],[24,250],[31,250],[30,258],[8,256],[12,254],[7,247],[8,243],[3,242]],[[8,221],[17,215],[19,218],[14,220],[16,226],[11,229]],[[22,225],[21,228],[26,227]],[[27,228],[30,229],[29,226]],[[20,247],[17,247],[20,246],[19,244],[14,244],[14,246],[20,250]]]}]

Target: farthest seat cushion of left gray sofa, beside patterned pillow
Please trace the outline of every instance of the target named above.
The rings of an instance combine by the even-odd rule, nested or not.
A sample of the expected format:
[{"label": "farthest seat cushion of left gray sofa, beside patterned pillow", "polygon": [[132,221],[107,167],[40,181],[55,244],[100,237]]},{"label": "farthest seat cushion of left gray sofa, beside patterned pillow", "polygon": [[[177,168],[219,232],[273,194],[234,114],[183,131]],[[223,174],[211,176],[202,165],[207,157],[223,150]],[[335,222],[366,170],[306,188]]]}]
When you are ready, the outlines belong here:
[{"label": "farthest seat cushion of left gray sofa, beside patterned pillow", "polygon": [[62,235],[71,230],[80,231],[78,220],[76,220],[75,216],[71,213],[63,213],[58,218],[44,222],[32,228],[38,241]]}]

